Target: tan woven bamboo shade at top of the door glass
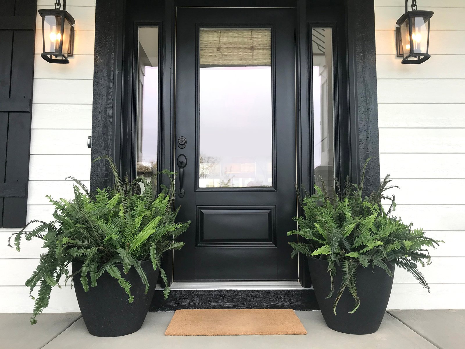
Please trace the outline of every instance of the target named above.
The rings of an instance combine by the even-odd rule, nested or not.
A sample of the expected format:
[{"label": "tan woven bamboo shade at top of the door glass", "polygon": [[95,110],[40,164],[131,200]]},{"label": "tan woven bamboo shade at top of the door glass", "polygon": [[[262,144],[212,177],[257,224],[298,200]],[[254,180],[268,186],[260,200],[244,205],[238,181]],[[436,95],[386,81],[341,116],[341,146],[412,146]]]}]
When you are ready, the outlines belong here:
[{"label": "tan woven bamboo shade at top of the door glass", "polygon": [[200,67],[271,67],[271,30],[200,29]]}]

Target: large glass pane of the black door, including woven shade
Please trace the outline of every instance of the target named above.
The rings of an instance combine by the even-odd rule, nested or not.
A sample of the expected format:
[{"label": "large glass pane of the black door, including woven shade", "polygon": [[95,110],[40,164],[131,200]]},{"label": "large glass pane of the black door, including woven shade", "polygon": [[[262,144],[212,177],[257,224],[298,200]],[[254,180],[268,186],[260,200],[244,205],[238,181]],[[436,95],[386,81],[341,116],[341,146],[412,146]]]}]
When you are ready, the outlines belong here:
[{"label": "large glass pane of the black door, including woven shade", "polygon": [[271,30],[199,35],[199,187],[272,187]]}]

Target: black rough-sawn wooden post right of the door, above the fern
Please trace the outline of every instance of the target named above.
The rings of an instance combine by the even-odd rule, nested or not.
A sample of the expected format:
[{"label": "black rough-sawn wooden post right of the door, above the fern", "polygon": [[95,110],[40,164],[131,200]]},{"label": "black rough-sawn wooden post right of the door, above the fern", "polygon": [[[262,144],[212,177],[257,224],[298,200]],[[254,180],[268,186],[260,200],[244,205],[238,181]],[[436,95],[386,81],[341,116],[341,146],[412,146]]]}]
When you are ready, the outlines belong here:
[{"label": "black rough-sawn wooden post right of the door, above the fern", "polygon": [[372,157],[366,193],[380,182],[374,0],[347,0],[346,14],[352,182],[359,182],[361,167]]}]

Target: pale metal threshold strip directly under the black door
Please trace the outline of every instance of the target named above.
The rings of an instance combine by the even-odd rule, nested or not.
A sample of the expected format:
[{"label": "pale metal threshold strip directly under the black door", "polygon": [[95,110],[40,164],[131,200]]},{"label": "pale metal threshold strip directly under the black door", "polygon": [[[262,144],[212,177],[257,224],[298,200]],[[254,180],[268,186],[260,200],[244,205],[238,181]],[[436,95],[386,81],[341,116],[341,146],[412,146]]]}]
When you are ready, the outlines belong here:
[{"label": "pale metal threshold strip directly under the black door", "polygon": [[173,282],[171,289],[304,289],[298,281],[188,281]]}]

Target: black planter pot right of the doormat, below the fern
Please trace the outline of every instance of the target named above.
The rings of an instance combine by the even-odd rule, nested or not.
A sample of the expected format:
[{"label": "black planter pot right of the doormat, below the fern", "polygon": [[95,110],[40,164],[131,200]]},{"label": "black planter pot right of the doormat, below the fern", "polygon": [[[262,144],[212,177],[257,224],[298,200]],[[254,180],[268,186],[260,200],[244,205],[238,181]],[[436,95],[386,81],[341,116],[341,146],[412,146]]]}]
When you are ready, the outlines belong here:
[{"label": "black planter pot right of the doormat, below the fern", "polygon": [[[354,307],[354,299],[348,289],[344,290],[334,315],[332,307],[342,282],[341,268],[336,266],[334,278],[334,296],[326,299],[331,290],[331,278],[328,273],[328,262],[316,258],[308,258],[313,289],[321,313],[330,329],[352,335],[368,335],[378,331],[391,295],[393,278],[379,267],[357,269],[357,293],[360,298],[359,309],[349,314]],[[389,268],[394,274],[394,266]]]}]

